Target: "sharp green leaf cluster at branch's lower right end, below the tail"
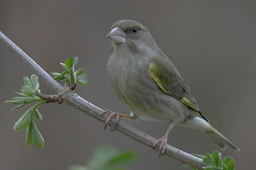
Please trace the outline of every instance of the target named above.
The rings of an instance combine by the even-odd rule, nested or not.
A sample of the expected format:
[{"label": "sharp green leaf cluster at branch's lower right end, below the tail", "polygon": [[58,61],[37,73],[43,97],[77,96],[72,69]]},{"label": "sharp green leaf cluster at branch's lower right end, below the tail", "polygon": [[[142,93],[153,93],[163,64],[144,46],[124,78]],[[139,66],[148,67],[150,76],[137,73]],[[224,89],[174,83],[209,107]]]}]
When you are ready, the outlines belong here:
[{"label": "sharp green leaf cluster at branch's lower right end, below the tail", "polygon": [[[212,154],[205,154],[206,156],[203,155],[196,155],[192,154],[195,157],[198,157],[203,160],[203,162],[206,165],[209,166],[204,166],[202,169],[208,169],[208,170],[234,170],[235,169],[235,162],[232,157],[225,157],[223,160],[221,160],[221,153],[219,151],[214,151]],[[194,170],[198,170],[192,166],[185,166],[187,168],[192,168]]]}]

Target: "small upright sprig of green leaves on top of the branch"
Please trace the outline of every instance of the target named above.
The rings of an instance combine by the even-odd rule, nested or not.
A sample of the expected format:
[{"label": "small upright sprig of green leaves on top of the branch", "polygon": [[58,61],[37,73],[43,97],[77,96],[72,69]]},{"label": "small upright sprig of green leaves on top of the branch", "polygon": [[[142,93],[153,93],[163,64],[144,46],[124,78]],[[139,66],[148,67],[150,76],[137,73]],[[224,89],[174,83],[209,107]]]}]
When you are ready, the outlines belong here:
[{"label": "small upright sprig of green leaves on top of the branch", "polygon": [[87,85],[89,82],[89,79],[87,77],[86,72],[80,68],[74,72],[75,64],[78,62],[78,57],[68,58],[65,60],[65,63],[60,63],[62,67],[64,67],[66,70],[62,73],[51,73],[57,82],[66,79],[65,82],[74,84],[77,82],[79,85]]}]

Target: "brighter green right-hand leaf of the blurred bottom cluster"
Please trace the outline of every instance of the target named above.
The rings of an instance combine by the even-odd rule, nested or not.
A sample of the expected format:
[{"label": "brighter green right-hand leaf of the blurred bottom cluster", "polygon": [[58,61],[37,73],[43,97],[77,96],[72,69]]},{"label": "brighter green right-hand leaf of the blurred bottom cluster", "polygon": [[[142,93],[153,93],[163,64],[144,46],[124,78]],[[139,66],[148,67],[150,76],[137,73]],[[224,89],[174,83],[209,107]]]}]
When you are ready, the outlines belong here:
[{"label": "brighter green right-hand leaf of the blurred bottom cluster", "polygon": [[123,151],[111,158],[106,165],[130,165],[136,160],[136,153],[133,151]]}]

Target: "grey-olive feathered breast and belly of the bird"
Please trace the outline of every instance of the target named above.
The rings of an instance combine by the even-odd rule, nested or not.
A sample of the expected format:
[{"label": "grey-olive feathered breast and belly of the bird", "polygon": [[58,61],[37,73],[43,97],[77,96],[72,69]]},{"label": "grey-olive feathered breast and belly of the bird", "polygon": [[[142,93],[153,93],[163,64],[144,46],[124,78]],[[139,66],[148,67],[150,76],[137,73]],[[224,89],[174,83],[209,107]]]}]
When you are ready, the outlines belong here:
[{"label": "grey-olive feathered breast and belly of the bird", "polygon": [[164,123],[183,122],[184,114],[176,112],[183,104],[164,93],[150,76],[151,59],[124,54],[112,53],[107,66],[109,82],[121,102],[140,117]]}]

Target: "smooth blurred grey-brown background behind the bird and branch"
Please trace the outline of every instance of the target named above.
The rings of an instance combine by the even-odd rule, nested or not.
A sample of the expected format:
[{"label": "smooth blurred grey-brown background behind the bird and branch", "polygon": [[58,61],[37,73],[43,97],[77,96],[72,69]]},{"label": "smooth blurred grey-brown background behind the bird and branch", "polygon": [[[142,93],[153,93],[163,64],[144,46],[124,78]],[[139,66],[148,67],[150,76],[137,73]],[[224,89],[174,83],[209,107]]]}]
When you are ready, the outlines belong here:
[{"label": "smooth blurred grey-brown background behind the bird and branch", "polygon": [[[253,169],[255,147],[256,75],[255,1],[7,1],[0,2],[0,30],[46,72],[62,72],[59,64],[78,56],[89,85],[75,92],[102,109],[130,114],[112,92],[106,66],[110,40],[106,35],[120,19],[133,19],[151,32],[192,89],[197,102],[224,136],[240,152],[227,147],[223,156],[234,157],[236,169]],[[33,74],[13,53],[0,45],[0,169],[67,169],[85,165],[93,148],[108,143],[119,150],[133,149],[139,159],[130,169],[186,169],[183,164],[129,137],[104,130],[104,124],[67,106],[40,106],[36,120],[45,147],[25,146],[25,133],[13,126],[31,106],[11,112],[5,100],[16,97],[23,76]],[[64,82],[61,82],[63,84]],[[40,83],[45,94],[52,94]],[[127,121],[161,138],[167,125]],[[212,153],[218,148],[198,130],[174,127],[168,144],[188,153]]]}]

